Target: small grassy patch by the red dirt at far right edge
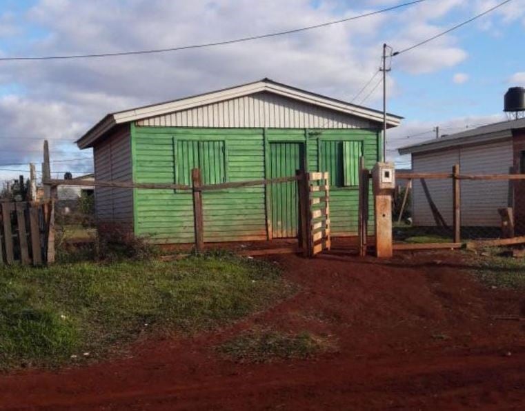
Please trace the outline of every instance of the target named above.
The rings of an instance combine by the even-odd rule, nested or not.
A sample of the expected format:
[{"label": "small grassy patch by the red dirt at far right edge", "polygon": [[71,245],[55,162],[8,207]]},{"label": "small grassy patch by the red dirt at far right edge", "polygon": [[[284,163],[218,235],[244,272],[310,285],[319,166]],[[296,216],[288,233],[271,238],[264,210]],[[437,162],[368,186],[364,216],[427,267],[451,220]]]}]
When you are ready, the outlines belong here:
[{"label": "small grassy patch by the red dirt at far right edge", "polygon": [[502,257],[498,249],[484,251],[477,257],[477,277],[486,285],[498,288],[525,289],[525,259]]}]

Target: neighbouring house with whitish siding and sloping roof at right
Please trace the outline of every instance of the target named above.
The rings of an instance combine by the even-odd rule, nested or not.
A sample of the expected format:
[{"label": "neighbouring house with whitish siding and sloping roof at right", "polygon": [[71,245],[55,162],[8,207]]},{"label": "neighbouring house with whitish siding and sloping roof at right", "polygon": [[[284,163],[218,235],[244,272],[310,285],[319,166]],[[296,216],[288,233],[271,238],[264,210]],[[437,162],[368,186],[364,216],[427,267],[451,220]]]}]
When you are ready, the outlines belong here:
[{"label": "neighbouring house with whitish siding and sloping roof at right", "polygon": [[[525,173],[525,119],[502,121],[399,149],[412,155],[413,172],[452,172],[459,164],[462,174]],[[450,179],[426,180],[430,196],[446,223],[453,221]],[[413,182],[414,225],[435,225],[419,180]],[[517,230],[525,231],[524,182],[461,181],[462,226],[499,227],[498,208],[514,207]]]}]

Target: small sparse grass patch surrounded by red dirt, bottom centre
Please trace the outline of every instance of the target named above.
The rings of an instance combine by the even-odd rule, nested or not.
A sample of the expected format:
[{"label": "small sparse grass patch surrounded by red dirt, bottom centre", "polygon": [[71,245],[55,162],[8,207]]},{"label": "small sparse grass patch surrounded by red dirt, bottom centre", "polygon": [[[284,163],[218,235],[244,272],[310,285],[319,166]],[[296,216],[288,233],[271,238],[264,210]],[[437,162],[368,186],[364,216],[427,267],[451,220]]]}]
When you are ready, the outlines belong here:
[{"label": "small sparse grass patch surrounded by red dirt, bottom centre", "polygon": [[220,345],[217,350],[235,361],[264,363],[275,359],[307,359],[333,348],[328,338],[310,332],[288,334],[273,330],[250,330]]}]

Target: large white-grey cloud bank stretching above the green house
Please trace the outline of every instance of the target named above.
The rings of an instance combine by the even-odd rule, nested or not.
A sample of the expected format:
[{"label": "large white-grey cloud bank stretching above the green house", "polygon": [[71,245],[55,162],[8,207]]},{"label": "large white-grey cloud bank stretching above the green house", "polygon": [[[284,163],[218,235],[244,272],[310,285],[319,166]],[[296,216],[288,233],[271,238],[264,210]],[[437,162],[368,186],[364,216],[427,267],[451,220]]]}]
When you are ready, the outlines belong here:
[{"label": "large white-grey cloud bank stretching above the green house", "polygon": [[[17,48],[1,50],[0,46],[0,54],[170,48],[310,26],[395,3],[321,0],[313,6],[311,0],[39,0],[20,19],[45,36],[18,39]],[[12,84],[21,92],[0,97],[2,134],[71,142],[106,112],[263,77],[352,99],[379,67],[385,38],[396,50],[412,46],[448,28],[446,17],[450,14],[472,14],[477,3],[428,1],[359,21],[218,48],[111,59],[3,63],[0,92]],[[10,16],[6,19],[14,21]],[[395,57],[393,65],[395,70],[420,74],[454,67],[466,58],[455,34],[447,34]],[[389,88],[398,92],[394,80],[389,81]],[[361,97],[364,95],[366,92]],[[380,95],[377,90],[366,104],[378,104]],[[1,162],[34,159],[29,151],[7,150],[17,145],[38,150],[41,144],[0,141],[4,149],[0,150]],[[52,149],[66,147],[72,144],[52,143]]]}]

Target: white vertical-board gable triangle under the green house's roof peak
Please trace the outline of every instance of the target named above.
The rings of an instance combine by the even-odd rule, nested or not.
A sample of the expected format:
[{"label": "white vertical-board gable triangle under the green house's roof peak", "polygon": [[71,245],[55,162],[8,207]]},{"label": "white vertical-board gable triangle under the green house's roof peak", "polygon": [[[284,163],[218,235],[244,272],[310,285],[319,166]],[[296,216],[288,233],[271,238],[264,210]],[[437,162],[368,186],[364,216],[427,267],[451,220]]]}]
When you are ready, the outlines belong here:
[{"label": "white vertical-board gable triangle under the green house's roof peak", "polygon": [[137,121],[137,126],[210,128],[374,128],[370,121],[259,92]]}]

